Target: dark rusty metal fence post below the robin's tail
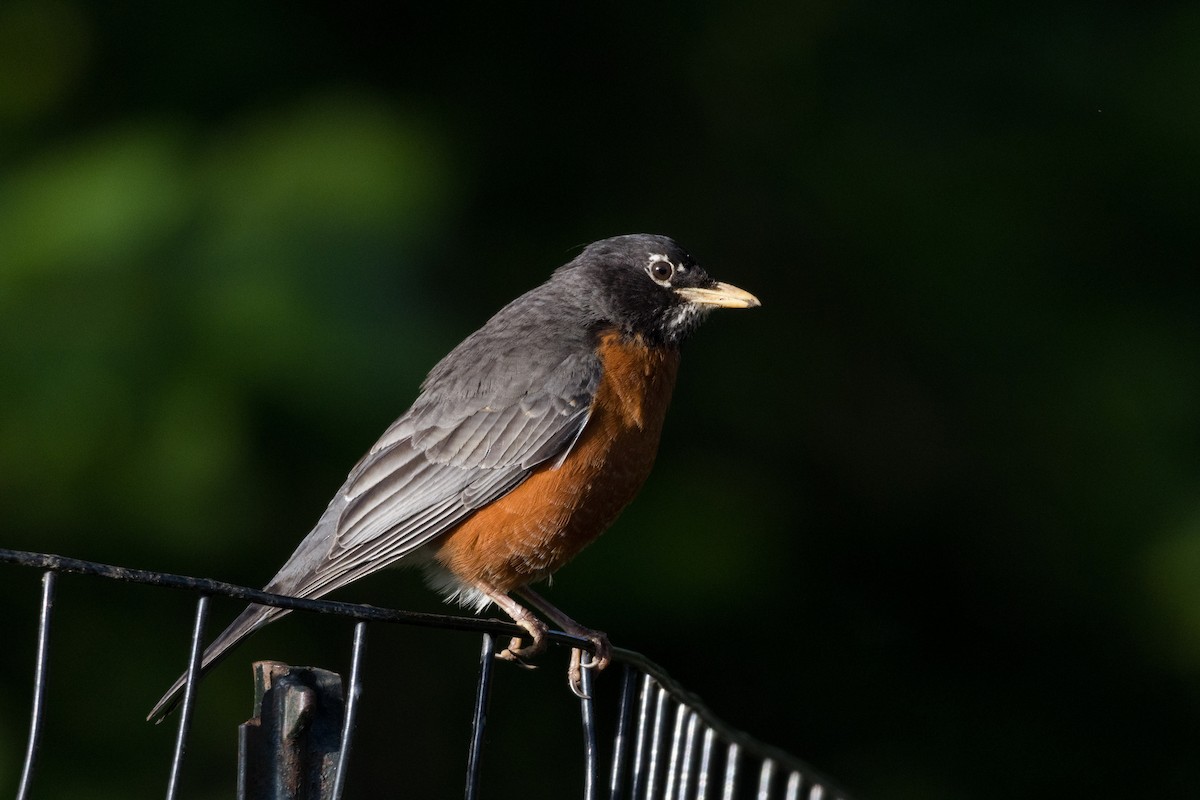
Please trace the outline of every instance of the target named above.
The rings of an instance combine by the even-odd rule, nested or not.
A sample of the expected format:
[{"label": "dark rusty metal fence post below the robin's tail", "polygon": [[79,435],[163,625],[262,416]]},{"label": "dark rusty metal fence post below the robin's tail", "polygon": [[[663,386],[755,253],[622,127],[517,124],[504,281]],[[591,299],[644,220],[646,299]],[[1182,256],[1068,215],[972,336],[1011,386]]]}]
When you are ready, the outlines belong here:
[{"label": "dark rusty metal fence post below the robin's tail", "polygon": [[341,750],[342,678],[254,663],[254,717],[238,727],[238,800],[329,800]]}]

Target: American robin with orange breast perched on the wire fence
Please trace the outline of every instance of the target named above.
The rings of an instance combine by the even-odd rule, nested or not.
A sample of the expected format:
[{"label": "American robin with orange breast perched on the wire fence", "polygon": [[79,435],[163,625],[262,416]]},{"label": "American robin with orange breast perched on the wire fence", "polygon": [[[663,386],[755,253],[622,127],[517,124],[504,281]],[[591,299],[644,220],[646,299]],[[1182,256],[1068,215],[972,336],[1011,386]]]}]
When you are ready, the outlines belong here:
[{"label": "American robin with orange breast perched on the wire fence", "polygon": [[[608,640],[529,589],[599,536],[654,463],[679,367],[679,343],[713,308],[750,308],[666,236],[586,247],[517,297],[430,372],[413,407],[350,470],[312,531],[265,590],[319,597],[397,563],[475,612],[494,603],[524,628],[500,652],[526,660],[546,624]],[[204,652],[208,669],[288,612],[250,606]],[[184,678],[150,712],[161,720]]]}]

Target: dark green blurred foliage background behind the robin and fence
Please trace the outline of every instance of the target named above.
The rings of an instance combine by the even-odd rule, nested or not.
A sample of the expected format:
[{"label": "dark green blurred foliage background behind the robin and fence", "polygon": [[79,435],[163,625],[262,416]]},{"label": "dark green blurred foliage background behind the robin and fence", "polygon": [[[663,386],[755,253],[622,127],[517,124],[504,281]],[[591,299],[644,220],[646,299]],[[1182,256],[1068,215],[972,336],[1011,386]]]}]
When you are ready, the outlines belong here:
[{"label": "dark green blurred foliage background behind the robin and fence", "polygon": [[[862,798],[1195,796],[1198,42],[1183,2],[6,0],[0,545],[260,585],[450,347],[667,233],[763,308],[551,597]],[[191,609],[61,581],[37,796],[162,790]],[[214,673],[186,796],[233,793],[251,660],[349,637]],[[370,642],[352,796],[454,796],[476,639]],[[488,796],[578,790],[564,658],[500,667]]]}]

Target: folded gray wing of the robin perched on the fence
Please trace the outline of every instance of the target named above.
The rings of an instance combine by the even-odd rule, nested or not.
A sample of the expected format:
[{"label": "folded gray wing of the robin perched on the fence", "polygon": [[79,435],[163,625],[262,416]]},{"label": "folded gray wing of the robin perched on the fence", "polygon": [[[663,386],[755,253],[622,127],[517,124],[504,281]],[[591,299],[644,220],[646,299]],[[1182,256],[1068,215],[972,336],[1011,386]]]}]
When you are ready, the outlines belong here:
[{"label": "folded gray wing of the robin perched on the fence", "polygon": [[526,357],[524,374],[511,361],[467,365],[474,391],[431,375],[268,589],[316,596],[382,570],[564,457],[587,423],[599,359],[574,353],[546,371]]}]

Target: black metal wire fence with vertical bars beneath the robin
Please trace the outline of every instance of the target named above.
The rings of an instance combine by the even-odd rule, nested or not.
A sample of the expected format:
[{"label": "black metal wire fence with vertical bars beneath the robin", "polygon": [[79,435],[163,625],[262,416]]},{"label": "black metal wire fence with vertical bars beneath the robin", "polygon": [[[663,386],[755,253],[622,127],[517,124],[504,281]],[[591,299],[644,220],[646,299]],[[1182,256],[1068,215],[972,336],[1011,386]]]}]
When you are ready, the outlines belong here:
[{"label": "black metal wire fence with vertical bars beneath the robin", "polygon": [[[175,747],[169,770],[166,796],[180,796],[180,774],[196,704],[199,660],[204,650],[204,630],[212,595],[233,597],[254,603],[278,606],[296,610],[336,614],[356,620],[350,674],[346,688],[344,711],[341,715],[341,735],[331,788],[322,798],[338,800],[347,780],[353,780],[348,768],[352,734],[362,693],[361,662],[366,646],[367,622],[394,622],[443,630],[472,631],[482,634],[474,715],[467,752],[464,796],[481,796],[480,764],[484,730],[487,724],[488,697],[492,686],[496,640],[521,634],[516,625],[473,616],[452,616],[385,609],[373,606],[301,600],[271,595],[256,589],[205,578],[191,578],[163,572],[132,570],[92,561],[62,558],[46,553],[0,549],[0,564],[17,564],[38,569],[42,575],[41,616],[37,630],[36,662],[34,668],[32,711],[17,800],[35,798],[35,768],[38,744],[43,736],[46,708],[46,673],[50,658],[50,630],[58,577],[64,573],[91,575],[112,581],[172,587],[197,595],[188,654],[187,682],[178,717]],[[551,642],[589,649],[590,643],[570,634],[552,631]],[[583,759],[581,794],[586,800],[601,796],[616,800],[835,800],[847,795],[808,764],[778,748],[764,745],[721,722],[694,694],[673,681],[666,672],[641,654],[614,648],[613,662],[620,664],[622,680],[616,703],[616,734],[606,751],[606,769],[601,768],[601,747],[596,726],[596,704],[592,672],[583,670],[583,692],[580,715],[583,729]],[[614,667],[616,668],[616,667]],[[242,765],[244,766],[244,765]],[[245,796],[245,775],[239,787]]]}]

